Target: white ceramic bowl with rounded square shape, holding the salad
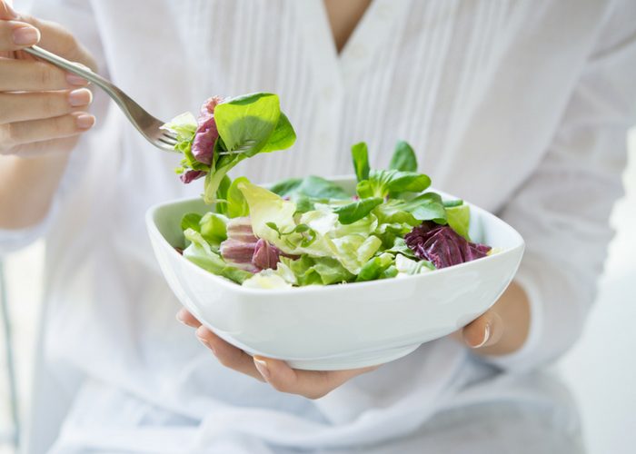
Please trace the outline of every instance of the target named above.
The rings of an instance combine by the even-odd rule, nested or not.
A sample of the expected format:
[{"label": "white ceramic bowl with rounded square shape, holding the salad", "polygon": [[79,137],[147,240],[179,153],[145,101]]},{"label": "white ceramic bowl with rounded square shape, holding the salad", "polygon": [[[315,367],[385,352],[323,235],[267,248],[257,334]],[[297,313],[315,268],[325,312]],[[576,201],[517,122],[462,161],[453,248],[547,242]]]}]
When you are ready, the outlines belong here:
[{"label": "white ceramic bowl with rounded square shape, holding the salad", "polygon": [[[334,181],[353,191],[353,180]],[[522,260],[522,237],[469,205],[472,239],[502,252],[404,278],[286,290],[243,288],[174,250],[184,245],[184,213],[209,211],[201,199],[155,205],[146,222],[166,281],[207,328],[296,369],[341,370],[397,360],[474,320],[506,289]]]}]

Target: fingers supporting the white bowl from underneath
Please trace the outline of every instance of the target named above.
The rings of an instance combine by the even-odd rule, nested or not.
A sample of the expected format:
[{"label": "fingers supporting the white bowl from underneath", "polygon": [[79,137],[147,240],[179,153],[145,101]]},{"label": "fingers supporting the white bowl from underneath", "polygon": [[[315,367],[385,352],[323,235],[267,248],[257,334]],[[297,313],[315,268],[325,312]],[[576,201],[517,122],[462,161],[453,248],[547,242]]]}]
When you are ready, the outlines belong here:
[{"label": "fingers supporting the white bowl from underneath", "polygon": [[252,357],[243,350],[237,349],[205,328],[185,309],[177,312],[176,318],[185,325],[195,328],[199,341],[210,349],[225,367],[242,372],[256,380],[266,381],[274,390],[298,394],[307,399],[322,398],[347,380],[379,367],[352,370],[294,370],[282,360]]}]

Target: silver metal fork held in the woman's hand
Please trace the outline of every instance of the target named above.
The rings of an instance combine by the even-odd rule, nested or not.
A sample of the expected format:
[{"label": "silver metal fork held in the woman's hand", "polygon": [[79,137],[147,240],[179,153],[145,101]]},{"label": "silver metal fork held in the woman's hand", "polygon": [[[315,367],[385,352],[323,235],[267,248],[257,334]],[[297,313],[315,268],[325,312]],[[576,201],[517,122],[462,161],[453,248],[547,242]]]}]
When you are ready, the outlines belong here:
[{"label": "silver metal fork held in the woman's hand", "polygon": [[55,66],[60,67],[69,73],[84,77],[87,81],[90,81],[103,89],[104,92],[113,99],[115,104],[122,109],[122,112],[124,112],[128,120],[130,120],[130,123],[133,123],[133,126],[148,142],[166,152],[174,152],[176,136],[174,133],[160,129],[165,122],[162,122],[161,120],[154,118],[153,115],[148,114],[139,104],[135,103],[130,96],[124,94],[122,90],[104,79],[104,77],[99,74],[95,74],[93,71],[81,64],[70,62],[63,57],[48,52],[36,45],[32,47],[25,47],[23,50],[49,62],[50,64],[55,64]]}]

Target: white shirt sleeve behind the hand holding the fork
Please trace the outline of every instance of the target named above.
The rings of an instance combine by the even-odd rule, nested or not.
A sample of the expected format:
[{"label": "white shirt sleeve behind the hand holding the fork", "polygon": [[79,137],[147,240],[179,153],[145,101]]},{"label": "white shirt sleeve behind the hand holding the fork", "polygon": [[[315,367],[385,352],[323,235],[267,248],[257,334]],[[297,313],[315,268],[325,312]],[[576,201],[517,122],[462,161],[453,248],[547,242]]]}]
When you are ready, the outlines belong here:
[{"label": "white shirt sleeve behind the hand holding the fork", "polygon": [[[16,7],[19,7],[19,5],[16,5]],[[85,0],[36,0],[27,13],[65,26],[93,54],[100,74],[108,74],[105,65],[104,47],[100,40],[91,2]],[[91,107],[91,112],[97,116],[97,125],[92,130],[92,133],[99,129],[100,124],[105,123],[100,122],[100,120],[104,119],[108,105],[108,98],[105,94],[95,90],[93,92],[94,103]],[[10,252],[15,252],[31,242],[35,242],[55,222],[55,213],[63,201],[65,193],[72,190],[88,161],[85,155],[87,153],[87,150],[85,150],[87,148],[86,144],[87,141],[84,139],[80,139],[77,143],[75,151],[71,154],[67,164],[62,181],[57,192],[55,192],[49,211],[41,222],[21,230],[0,229],[0,257]]]}]

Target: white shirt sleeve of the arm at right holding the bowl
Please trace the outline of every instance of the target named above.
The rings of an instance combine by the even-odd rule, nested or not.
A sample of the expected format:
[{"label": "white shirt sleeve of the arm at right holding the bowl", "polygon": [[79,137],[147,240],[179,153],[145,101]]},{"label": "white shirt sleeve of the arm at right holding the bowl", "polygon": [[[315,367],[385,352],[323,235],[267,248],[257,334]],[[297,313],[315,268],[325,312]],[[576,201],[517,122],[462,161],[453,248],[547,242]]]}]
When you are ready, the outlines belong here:
[{"label": "white shirt sleeve of the arm at right holding the bowl", "polygon": [[550,149],[502,211],[526,242],[515,279],[532,319],[521,350],[486,359],[502,369],[557,359],[580,336],[595,298],[636,114],[636,2],[614,5],[602,30]]}]

